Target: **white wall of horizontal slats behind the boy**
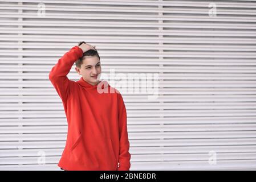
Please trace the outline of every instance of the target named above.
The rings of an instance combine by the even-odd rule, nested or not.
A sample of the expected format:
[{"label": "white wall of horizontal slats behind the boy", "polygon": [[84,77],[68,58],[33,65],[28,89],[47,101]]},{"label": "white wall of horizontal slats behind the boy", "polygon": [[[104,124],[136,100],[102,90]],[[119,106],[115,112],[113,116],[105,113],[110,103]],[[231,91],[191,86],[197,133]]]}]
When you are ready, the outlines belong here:
[{"label": "white wall of horizontal slats behind the boy", "polygon": [[131,170],[256,169],[255,22],[256,1],[0,1],[0,169],[59,170],[48,73],[79,41],[103,73],[159,73],[158,100],[120,90]]}]

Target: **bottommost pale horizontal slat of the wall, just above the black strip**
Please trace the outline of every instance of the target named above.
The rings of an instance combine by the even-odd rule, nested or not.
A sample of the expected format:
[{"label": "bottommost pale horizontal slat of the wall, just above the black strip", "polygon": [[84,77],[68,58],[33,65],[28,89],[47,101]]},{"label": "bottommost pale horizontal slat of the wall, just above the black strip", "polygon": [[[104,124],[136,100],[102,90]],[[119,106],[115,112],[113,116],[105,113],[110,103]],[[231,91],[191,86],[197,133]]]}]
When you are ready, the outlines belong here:
[{"label": "bottommost pale horizontal slat of the wall, just above the black strip", "polygon": [[[131,171],[134,170],[255,170],[256,160],[220,160],[216,165],[210,165],[208,161],[189,162],[132,162]],[[25,164],[0,166],[1,170],[54,170],[62,171],[57,163],[54,164]]]}]

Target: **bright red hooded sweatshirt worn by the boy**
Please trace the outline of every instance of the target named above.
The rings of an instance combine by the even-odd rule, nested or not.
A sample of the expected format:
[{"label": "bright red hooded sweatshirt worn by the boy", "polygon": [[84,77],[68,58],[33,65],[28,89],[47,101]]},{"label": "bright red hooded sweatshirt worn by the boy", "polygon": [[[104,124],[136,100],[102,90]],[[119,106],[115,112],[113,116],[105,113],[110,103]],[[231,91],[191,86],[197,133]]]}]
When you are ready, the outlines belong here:
[{"label": "bright red hooded sweatshirt worn by the boy", "polygon": [[[91,85],[83,77],[68,80],[72,65],[82,55],[82,49],[72,47],[49,74],[68,123],[66,146],[58,166],[66,170],[128,171],[131,154],[123,97],[107,81]],[[98,92],[100,87],[105,92]]]}]

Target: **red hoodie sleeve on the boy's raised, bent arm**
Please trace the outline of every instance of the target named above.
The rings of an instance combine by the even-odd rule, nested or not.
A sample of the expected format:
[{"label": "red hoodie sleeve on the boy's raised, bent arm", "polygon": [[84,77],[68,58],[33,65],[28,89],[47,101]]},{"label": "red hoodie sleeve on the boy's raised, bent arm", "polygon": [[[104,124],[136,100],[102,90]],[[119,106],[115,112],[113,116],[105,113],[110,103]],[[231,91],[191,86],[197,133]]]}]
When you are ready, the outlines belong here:
[{"label": "red hoodie sleeve on the boy's raised, bent arm", "polygon": [[49,73],[49,80],[56,89],[63,102],[67,101],[70,92],[71,81],[68,80],[68,73],[72,65],[83,56],[83,50],[78,46],[72,47],[70,51],[66,52],[58,63],[54,65]]}]

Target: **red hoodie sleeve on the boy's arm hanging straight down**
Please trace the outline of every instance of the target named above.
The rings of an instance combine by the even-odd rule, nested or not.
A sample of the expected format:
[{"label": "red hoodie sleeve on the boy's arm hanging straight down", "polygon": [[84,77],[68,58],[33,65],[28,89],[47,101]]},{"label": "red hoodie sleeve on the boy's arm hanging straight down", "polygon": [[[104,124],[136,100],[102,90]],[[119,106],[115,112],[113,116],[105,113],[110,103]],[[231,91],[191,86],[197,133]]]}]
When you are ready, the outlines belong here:
[{"label": "red hoodie sleeve on the boy's arm hanging straight down", "polygon": [[123,97],[120,93],[117,94],[118,98],[118,121],[119,121],[119,167],[118,171],[129,171],[131,167],[129,153],[129,140],[127,133],[127,113],[123,101]]}]

